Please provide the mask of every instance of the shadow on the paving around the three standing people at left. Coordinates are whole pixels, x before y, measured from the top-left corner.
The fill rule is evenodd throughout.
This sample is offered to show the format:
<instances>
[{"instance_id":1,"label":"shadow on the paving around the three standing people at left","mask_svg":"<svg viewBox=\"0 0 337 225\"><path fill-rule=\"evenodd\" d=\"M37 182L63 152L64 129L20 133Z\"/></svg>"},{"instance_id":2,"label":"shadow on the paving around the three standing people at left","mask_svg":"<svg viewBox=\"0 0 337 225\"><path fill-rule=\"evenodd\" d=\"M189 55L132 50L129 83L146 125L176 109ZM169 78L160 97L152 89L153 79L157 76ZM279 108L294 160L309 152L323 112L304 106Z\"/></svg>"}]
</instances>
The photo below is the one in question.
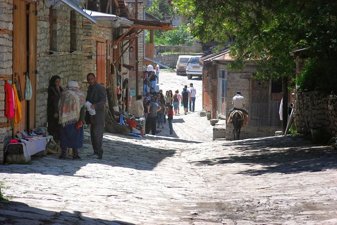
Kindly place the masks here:
<instances>
[{"instance_id":1,"label":"shadow on the paving around the three standing people at left","mask_svg":"<svg viewBox=\"0 0 337 225\"><path fill-rule=\"evenodd\" d=\"M94 159L87 156L93 153L90 138L84 140L83 148L79 149L80 161L73 161L72 156L59 159L59 153L46 156L31 156L30 164L9 164L0 166L0 173L43 174L55 176L74 176L81 167L90 163L120 166L141 171L151 171L166 157L175 154L174 149L164 149L137 144L137 140L128 141L129 136L114 136L114 140L103 138L103 158ZM156 137L158 139L158 137ZM149 140L149 145L151 141ZM153 140L156 141L156 140Z\"/></svg>"}]
</instances>

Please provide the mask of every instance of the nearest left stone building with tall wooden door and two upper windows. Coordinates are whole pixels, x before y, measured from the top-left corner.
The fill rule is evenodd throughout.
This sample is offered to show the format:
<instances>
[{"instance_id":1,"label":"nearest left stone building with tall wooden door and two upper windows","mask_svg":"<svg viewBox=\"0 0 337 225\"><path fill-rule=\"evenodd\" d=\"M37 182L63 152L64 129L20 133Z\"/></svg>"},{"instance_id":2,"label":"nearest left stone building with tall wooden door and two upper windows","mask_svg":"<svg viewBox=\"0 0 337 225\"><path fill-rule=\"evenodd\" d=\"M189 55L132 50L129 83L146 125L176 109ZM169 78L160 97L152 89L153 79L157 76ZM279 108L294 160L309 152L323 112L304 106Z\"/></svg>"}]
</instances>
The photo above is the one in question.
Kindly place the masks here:
<instances>
[{"instance_id":1,"label":"nearest left stone building with tall wooden door and two upper windows","mask_svg":"<svg viewBox=\"0 0 337 225\"><path fill-rule=\"evenodd\" d=\"M17 131L46 126L51 76L59 75L63 87L71 80L82 86L83 12L66 5L53 8L46 4L38 0L6 0L0 5L0 162L8 140ZM14 125L4 117L4 82L18 81L24 93L27 78L31 81L32 98L21 101L22 119Z\"/></svg>"}]
</instances>

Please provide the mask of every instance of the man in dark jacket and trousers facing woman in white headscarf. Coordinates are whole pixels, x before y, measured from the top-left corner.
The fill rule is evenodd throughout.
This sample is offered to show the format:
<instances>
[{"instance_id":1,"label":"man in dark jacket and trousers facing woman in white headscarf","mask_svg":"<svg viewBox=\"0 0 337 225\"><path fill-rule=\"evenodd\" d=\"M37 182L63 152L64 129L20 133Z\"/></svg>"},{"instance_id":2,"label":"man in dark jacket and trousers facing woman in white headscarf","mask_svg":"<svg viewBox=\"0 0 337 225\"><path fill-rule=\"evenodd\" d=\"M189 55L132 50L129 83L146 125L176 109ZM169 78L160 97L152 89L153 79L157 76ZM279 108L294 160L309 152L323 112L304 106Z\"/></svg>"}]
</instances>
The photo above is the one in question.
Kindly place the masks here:
<instances>
[{"instance_id":1,"label":"man in dark jacket and trousers facing woman in white headscarf","mask_svg":"<svg viewBox=\"0 0 337 225\"><path fill-rule=\"evenodd\" d=\"M93 73L89 73L87 75L87 81L89 83L89 87L86 100L92 104L90 107L96 110L95 115L90 115L90 138L94 153L87 156L100 159L103 156L102 141L105 118L106 91L102 85L96 82L96 77Z\"/></svg>"}]
</instances>

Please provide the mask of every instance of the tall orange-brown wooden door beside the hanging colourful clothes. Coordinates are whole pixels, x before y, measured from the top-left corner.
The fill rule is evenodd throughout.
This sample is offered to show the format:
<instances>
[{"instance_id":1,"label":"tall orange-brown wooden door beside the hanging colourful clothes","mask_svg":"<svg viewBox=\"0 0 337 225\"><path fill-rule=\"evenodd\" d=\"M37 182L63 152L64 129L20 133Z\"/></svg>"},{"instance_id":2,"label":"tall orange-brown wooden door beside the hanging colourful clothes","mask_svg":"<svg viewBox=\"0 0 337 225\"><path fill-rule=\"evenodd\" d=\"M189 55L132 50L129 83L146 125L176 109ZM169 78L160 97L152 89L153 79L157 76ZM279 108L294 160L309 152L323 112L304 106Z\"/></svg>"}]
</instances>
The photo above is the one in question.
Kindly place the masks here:
<instances>
[{"instance_id":1,"label":"tall orange-brown wooden door beside the hanging colourful clothes","mask_svg":"<svg viewBox=\"0 0 337 225\"><path fill-rule=\"evenodd\" d=\"M13 81L20 80L22 97L22 119L15 125L13 136L18 130L35 126L36 100L36 4L21 0L13 1ZM26 75L32 85L32 98L24 100Z\"/></svg>"}]
</instances>

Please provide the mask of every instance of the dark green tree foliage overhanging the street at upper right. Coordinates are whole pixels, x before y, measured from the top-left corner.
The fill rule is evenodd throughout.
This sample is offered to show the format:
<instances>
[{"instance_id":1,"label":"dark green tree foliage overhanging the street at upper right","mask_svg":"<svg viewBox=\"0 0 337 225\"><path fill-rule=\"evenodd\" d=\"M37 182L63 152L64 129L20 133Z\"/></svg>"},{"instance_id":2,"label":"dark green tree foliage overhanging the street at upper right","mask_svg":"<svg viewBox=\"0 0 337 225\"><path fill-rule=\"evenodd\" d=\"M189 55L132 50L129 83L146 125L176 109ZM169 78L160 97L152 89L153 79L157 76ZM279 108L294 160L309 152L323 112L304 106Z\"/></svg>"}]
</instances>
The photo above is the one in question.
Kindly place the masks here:
<instances>
[{"instance_id":1,"label":"dark green tree foliage overhanging the street at upper right","mask_svg":"<svg viewBox=\"0 0 337 225\"><path fill-rule=\"evenodd\" d=\"M337 59L337 2L173 0L175 10L191 24L192 34L203 42L226 42L234 37L231 66L256 60L260 79L294 74L295 58L290 54L306 48L311 70L317 65L335 64ZM309 69L309 67L307 67ZM336 74L325 74L325 78ZM317 78L317 75L314 75ZM314 88L317 88L315 86Z\"/></svg>"}]
</instances>

